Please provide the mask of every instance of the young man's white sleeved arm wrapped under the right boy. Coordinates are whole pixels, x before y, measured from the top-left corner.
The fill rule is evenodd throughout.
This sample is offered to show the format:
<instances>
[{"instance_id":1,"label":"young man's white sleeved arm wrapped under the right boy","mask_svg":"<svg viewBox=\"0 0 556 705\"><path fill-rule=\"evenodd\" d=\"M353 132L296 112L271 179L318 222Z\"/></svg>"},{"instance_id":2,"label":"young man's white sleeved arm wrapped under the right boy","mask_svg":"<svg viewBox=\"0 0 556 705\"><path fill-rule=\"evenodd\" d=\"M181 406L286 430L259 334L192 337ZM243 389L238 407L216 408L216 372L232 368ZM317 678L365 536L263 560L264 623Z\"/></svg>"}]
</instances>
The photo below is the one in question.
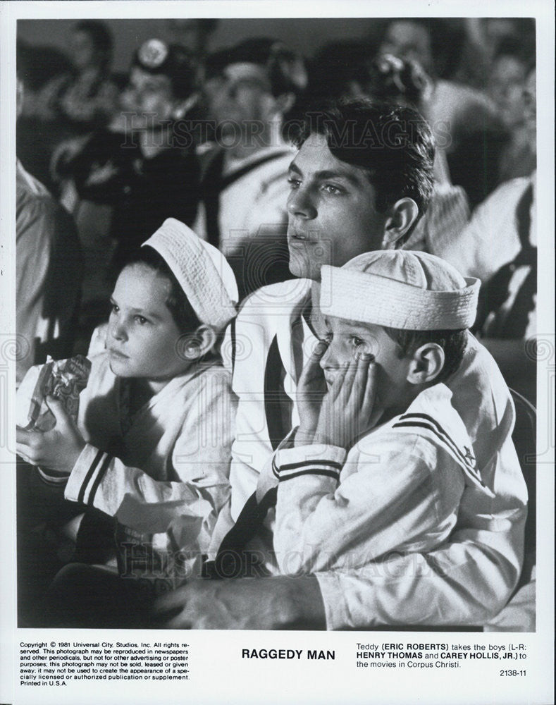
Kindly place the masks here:
<instances>
[{"instance_id":1,"label":"young man's white sleeved arm wrapped under the right boy","mask_svg":"<svg viewBox=\"0 0 556 705\"><path fill-rule=\"evenodd\" d=\"M319 572L328 629L486 623L507 603L521 570L526 507L513 490L501 484L483 513L483 497L466 486L457 529L433 551Z\"/></svg>"}]
</instances>

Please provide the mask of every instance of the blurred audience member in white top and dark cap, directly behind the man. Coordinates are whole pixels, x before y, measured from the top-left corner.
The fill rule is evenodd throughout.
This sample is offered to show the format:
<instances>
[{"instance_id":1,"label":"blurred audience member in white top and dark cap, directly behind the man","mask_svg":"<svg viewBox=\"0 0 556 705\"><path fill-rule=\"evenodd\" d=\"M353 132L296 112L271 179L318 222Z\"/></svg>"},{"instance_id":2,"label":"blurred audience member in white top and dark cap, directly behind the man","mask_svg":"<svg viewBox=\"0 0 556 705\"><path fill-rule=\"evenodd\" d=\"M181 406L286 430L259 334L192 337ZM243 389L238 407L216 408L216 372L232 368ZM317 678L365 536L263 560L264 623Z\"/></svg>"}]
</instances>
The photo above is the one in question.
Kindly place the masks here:
<instances>
[{"instance_id":1,"label":"blurred audience member in white top and dark cap, directly behind the man","mask_svg":"<svg viewBox=\"0 0 556 705\"><path fill-rule=\"evenodd\" d=\"M204 95L217 145L204 154L193 227L226 255L240 298L290 276L285 200L292 150L282 130L306 80L301 59L273 39L248 39L206 63Z\"/></svg>"}]
</instances>

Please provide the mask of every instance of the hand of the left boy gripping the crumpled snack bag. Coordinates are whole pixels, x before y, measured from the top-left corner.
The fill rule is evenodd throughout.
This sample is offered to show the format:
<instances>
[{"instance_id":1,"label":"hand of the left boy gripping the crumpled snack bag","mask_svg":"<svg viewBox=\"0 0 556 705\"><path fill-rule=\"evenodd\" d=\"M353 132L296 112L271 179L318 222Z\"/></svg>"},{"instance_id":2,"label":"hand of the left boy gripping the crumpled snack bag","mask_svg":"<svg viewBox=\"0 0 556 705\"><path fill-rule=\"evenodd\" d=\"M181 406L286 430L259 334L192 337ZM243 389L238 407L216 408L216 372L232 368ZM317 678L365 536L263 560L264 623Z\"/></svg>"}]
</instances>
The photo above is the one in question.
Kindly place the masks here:
<instances>
[{"instance_id":1,"label":"hand of the left boy gripping the crumpled snack bag","mask_svg":"<svg viewBox=\"0 0 556 705\"><path fill-rule=\"evenodd\" d=\"M17 429L17 452L31 465L70 472L85 448L85 440L59 399L47 398L56 426L51 431Z\"/></svg>"}]
</instances>

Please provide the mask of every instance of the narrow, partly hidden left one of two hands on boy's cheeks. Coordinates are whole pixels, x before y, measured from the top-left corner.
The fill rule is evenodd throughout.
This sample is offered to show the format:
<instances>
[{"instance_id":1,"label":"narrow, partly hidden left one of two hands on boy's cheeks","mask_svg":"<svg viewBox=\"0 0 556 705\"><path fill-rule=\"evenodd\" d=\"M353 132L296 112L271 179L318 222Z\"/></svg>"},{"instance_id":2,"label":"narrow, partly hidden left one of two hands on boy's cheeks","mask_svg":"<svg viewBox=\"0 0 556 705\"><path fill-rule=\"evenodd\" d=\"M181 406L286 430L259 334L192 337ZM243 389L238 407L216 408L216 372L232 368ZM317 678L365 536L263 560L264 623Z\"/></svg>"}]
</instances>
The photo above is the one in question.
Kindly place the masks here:
<instances>
[{"instance_id":1,"label":"narrow, partly hidden left one of two hands on boy's cheeks","mask_svg":"<svg viewBox=\"0 0 556 705\"><path fill-rule=\"evenodd\" d=\"M326 394L326 380L320 362L327 347L324 341L319 341L297 383L299 429L295 435L296 445L311 443L316 424L319 422L319 413Z\"/></svg>"}]
</instances>

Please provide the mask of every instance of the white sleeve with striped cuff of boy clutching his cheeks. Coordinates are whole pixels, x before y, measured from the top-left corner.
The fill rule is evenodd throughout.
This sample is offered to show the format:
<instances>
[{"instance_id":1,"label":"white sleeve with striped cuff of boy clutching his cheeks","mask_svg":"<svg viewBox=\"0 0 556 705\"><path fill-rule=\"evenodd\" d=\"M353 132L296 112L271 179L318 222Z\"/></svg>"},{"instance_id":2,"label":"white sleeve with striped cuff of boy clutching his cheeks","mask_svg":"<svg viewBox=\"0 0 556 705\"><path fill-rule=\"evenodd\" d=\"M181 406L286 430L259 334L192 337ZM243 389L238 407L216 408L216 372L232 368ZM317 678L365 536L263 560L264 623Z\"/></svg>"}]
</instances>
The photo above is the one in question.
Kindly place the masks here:
<instances>
[{"instance_id":1,"label":"white sleeve with striped cuff of boy clutching his cheeks","mask_svg":"<svg viewBox=\"0 0 556 705\"><path fill-rule=\"evenodd\" d=\"M280 450L274 548L281 572L357 568L391 551L427 550L450 534L464 486L450 456L401 434L367 448L376 454L358 455L339 485L343 448Z\"/></svg>"}]
</instances>

